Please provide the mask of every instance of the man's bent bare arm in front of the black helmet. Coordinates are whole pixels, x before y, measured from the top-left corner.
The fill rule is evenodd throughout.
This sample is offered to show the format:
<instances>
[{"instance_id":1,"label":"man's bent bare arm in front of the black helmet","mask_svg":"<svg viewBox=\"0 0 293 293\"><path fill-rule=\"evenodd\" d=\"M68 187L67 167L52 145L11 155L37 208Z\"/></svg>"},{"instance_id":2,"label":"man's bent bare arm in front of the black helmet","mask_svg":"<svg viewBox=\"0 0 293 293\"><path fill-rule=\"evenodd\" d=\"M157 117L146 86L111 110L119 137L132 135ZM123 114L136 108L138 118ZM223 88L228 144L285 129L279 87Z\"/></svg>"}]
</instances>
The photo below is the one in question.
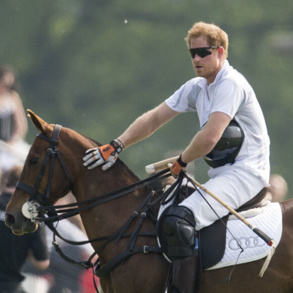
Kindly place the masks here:
<instances>
[{"instance_id":1,"label":"man's bent bare arm in front of the black helmet","mask_svg":"<svg viewBox=\"0 0 293 293\"><path fill-rule=\"evenodd\" d=\"M182 162L190 163L209 154L221 138L230 121L230 116L225 113L212 113L205 127L193 137L182 153Z\"/></svg>"}]
</instances>

